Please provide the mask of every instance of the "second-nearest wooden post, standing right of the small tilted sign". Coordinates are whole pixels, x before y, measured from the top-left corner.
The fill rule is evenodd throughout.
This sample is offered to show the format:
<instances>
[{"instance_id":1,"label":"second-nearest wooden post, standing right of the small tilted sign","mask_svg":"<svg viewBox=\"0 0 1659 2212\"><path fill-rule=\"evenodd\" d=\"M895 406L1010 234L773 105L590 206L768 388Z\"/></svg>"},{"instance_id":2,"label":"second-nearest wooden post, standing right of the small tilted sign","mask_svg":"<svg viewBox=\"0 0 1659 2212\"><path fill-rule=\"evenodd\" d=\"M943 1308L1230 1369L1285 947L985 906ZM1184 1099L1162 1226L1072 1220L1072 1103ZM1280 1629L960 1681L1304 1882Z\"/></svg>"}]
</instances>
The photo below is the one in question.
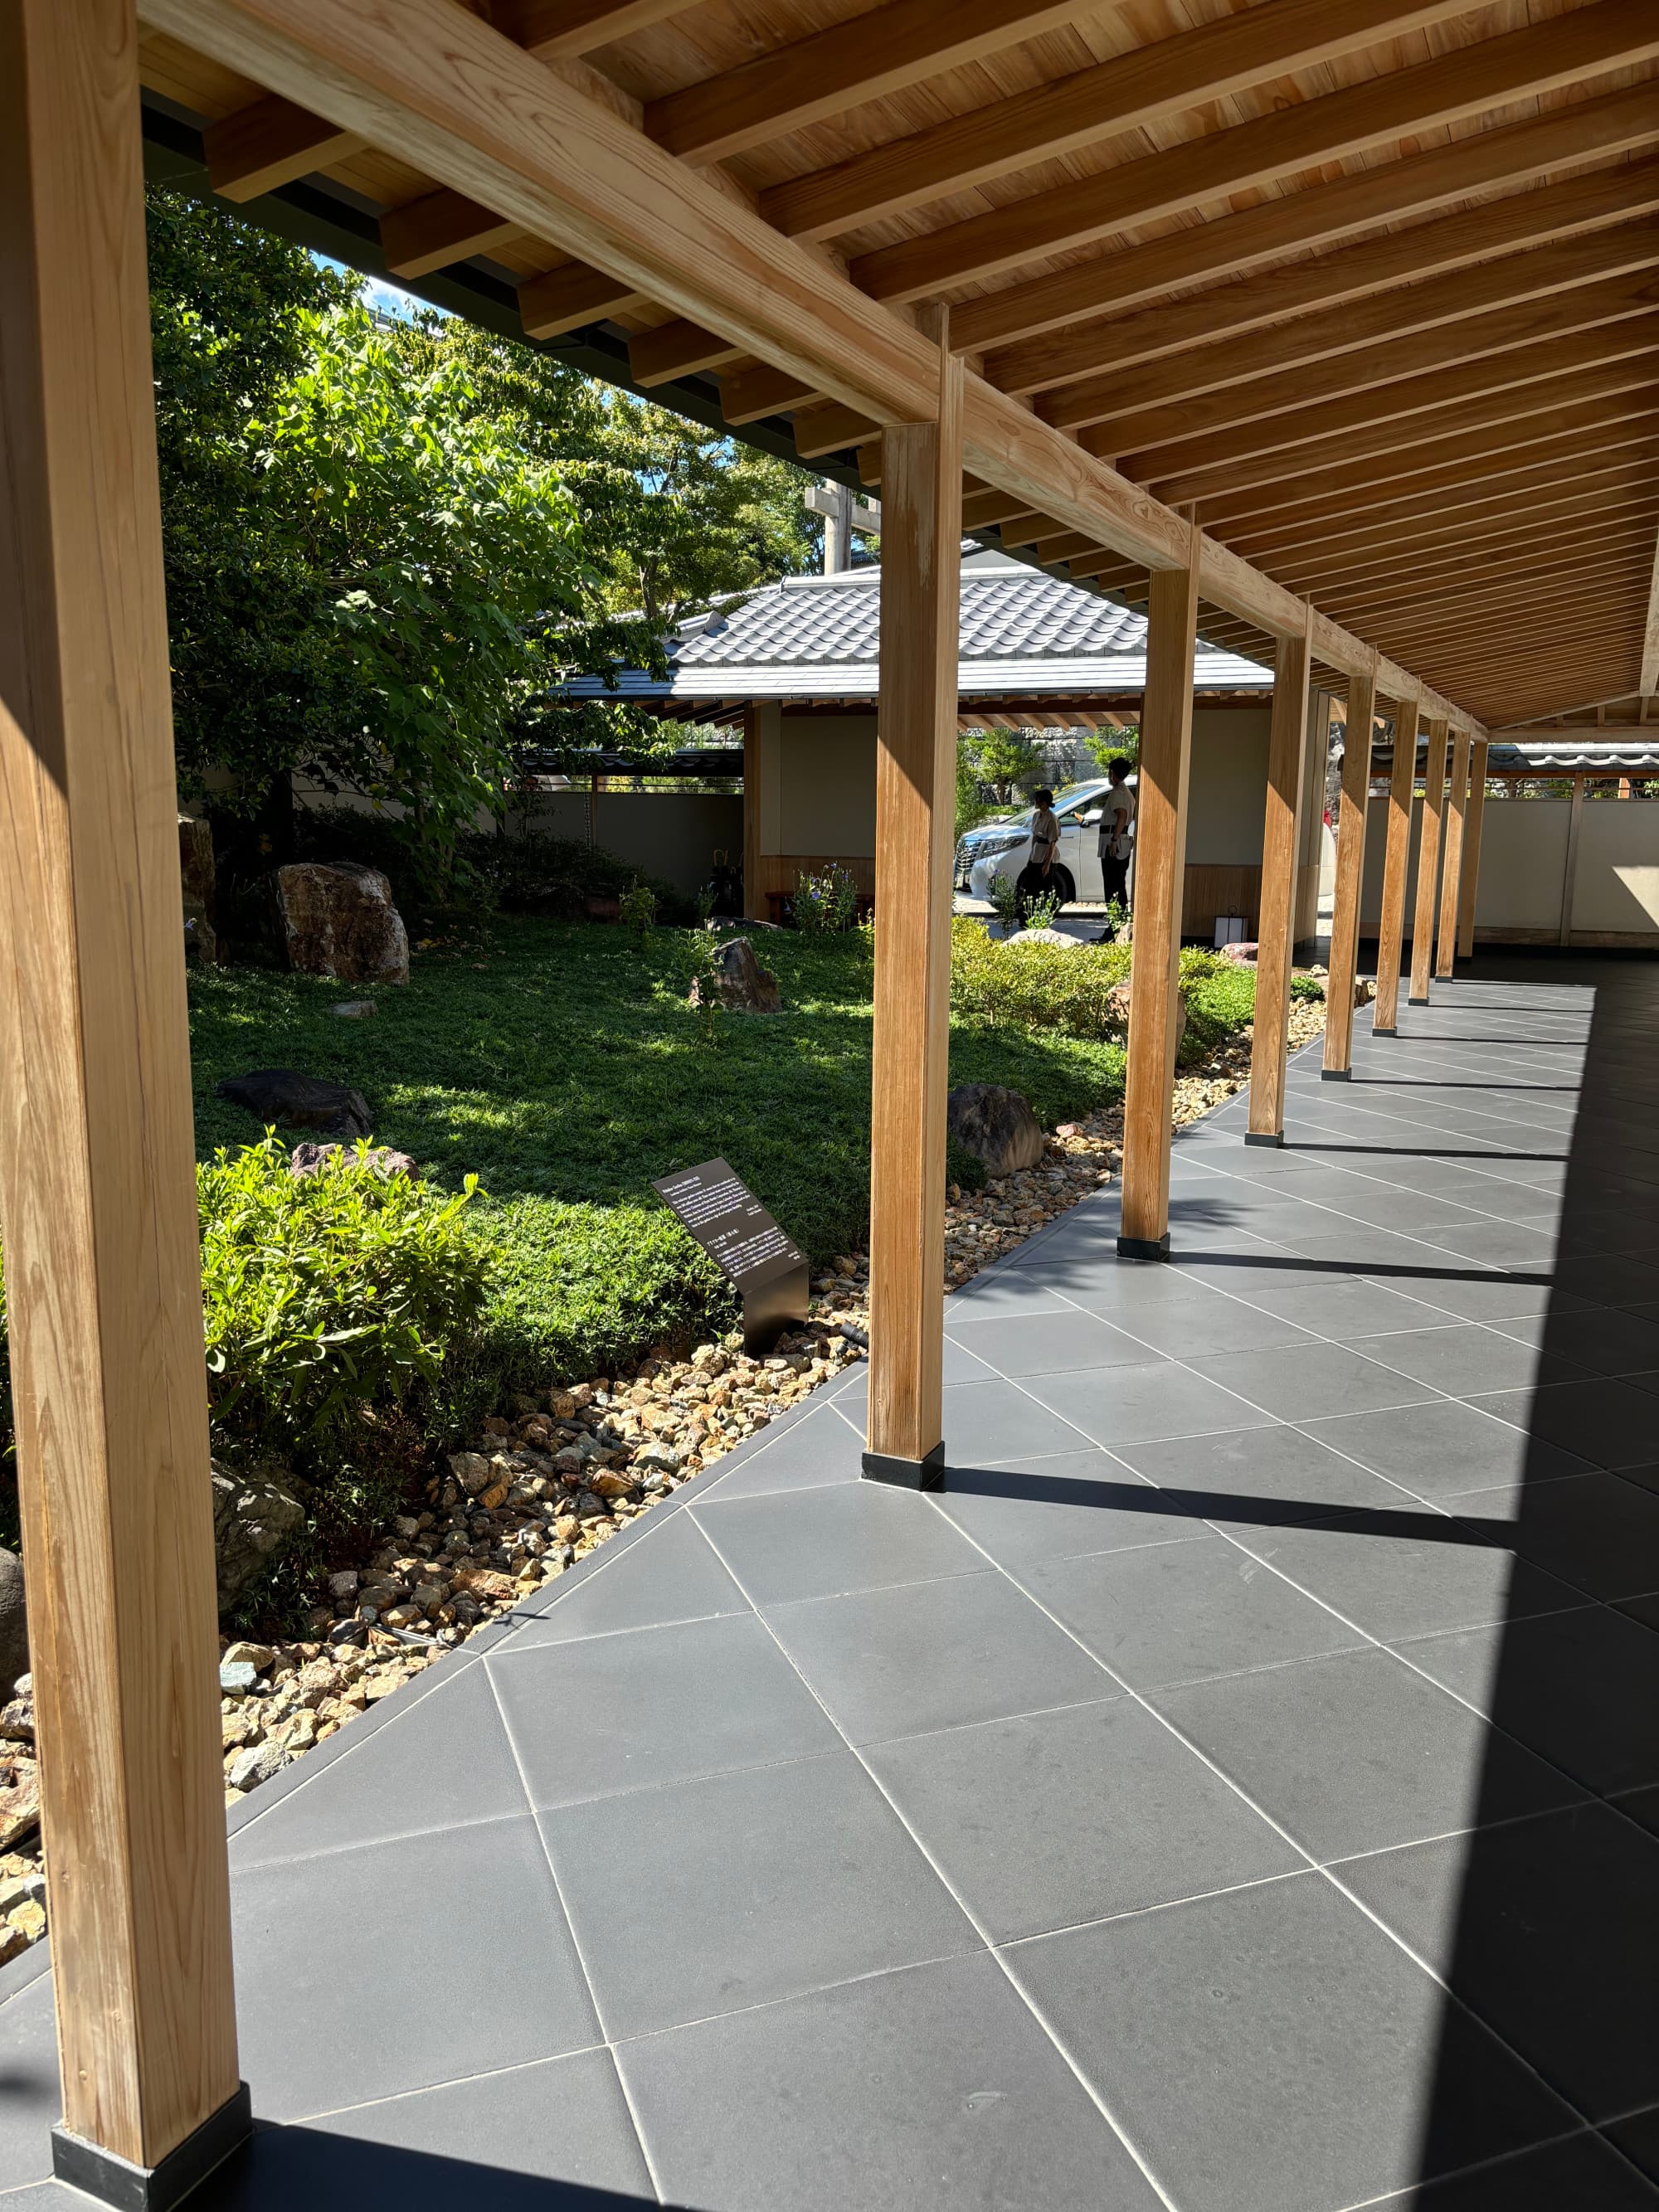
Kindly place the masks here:
<instances>
[{"instance_id":1,"label":"second-nearest wooden post, standing right of the small tilted sign","mask_svg":"<svg viewBox=\"0 0 1659 2212\"><path fill-rule=\"evenodd\" d=\"M876 741L876 1040L865 1475L945 1462L945 1097L951 1011L962 363L940 418L883 434Z\"/></svg>"}]
</instances>

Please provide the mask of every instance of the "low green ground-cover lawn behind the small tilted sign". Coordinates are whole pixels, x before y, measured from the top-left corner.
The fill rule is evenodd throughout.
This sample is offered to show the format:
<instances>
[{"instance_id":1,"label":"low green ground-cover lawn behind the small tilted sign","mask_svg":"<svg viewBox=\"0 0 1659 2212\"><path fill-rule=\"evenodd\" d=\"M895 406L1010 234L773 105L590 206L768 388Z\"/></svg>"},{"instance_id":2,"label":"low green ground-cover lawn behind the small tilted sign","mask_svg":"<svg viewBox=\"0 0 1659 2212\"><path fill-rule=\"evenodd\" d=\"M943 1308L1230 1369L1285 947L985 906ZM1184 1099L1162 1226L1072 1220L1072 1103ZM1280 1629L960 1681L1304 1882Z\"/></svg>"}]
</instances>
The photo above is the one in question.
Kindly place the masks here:
<instances>
[{"instance_id":1,"label":"low green ground-cover lawn behind the small tilted sign","mask_svg":"<svg viewBox=\"0 0 1659 2212\"><path fill-rule=\"evenodd\" d=\"M785 1011L726 1015L712 1042L686 1006L686 942L664 929L641 951L615 927L504 918L482 953L416 953L407 989L378 991L365 1022L330 1011L352 987L197 969L199 1150L257 1135L215 1097L223 1075L356 1084L376 1141L442 1186L482 1186L478 1225L500 1248L491 1365L524 1380L611 1365L728 1310L650 1190L670 1168L723 1155L814 1261L865 1241L867 940L763 933ZM1217 980L1206 1033L1248 1018L1252 980ZM1119 1042L951 1029L951 1079L1009 1084L1044 1126L1117 1097L1121 1068Z\"/></svg>"}]
</instances>

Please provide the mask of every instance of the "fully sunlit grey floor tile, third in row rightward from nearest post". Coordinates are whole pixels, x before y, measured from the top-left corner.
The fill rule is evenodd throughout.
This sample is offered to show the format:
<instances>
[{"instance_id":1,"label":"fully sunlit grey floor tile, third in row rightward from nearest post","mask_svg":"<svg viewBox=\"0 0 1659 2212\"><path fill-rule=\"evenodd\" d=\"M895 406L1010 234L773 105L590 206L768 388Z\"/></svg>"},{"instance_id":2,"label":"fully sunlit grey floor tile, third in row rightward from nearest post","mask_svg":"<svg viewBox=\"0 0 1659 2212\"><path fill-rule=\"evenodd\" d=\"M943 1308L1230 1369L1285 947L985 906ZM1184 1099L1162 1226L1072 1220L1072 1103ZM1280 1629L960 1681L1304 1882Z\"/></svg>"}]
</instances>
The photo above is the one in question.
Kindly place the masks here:
<instances>
[{"instance_id":1,"label":"fully sunlit grey floor tile, third in row rightward from nearest post","mask_svg":"<svg viewBox=\"0 0 1659 2212\"><path fill-rule=\"evenodd\" d=\"M993 1942L1303 1865L1128 1697L905 1736L869 1761Z\"/></svg>"}]
</instances>

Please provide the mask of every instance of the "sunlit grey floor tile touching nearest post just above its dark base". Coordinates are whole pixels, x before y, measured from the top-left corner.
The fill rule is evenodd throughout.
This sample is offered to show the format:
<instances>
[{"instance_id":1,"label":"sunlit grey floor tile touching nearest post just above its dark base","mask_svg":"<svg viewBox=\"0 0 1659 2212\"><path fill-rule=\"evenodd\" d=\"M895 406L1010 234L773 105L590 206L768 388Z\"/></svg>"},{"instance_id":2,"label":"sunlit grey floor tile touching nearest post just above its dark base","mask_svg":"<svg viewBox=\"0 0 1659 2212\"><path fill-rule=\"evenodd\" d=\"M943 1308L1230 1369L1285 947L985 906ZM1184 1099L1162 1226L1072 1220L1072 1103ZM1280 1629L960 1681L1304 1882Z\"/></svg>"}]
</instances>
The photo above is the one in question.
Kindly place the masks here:
<instances>
[{"instance_id":1,"label":"sunlit grey floor tile touching nearest post just above its dark base","mask_svg":"<svg viewBox=\"0 0 1659 2212\"><path fill-rule=\"evenodd\" d=\"M429 1913L409 1936L398 1900L453 1896L462 1867L469 1911ZM261 2119L303 2119L599 2039L529 1814L471 1827L462 1843L405 1836L250 1867L230 1902L241 2070ZM369 1991L396 2008L396 2035L363 2033Z\"/></svg>"}]
</instances>

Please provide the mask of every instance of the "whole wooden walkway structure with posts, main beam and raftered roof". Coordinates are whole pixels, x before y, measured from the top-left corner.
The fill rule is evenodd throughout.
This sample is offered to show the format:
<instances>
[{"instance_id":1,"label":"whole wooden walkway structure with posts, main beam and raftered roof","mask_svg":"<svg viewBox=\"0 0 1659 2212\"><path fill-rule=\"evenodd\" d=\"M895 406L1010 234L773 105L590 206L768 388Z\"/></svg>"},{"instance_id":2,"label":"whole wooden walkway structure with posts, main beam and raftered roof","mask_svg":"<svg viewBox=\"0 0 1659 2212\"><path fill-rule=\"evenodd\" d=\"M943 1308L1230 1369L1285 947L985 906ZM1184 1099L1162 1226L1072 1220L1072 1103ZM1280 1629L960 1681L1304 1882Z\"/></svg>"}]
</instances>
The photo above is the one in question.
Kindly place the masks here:
<instances>
[{"instance_id":1,"label":"whole wooden walkway structure with posts, main beam and raftered roof","mask_svg":"<svg viewBox=\"0 0 1659 2212\"><path fill-rule=\"evenodd\" d=\"M1444 973L1484 723L1655 688L1655 58L1652 0L7 0L0 1190L62 2172L170 2203L248 2126L142 86L197 117L219 195L338 188L392 272L484 257L526 336L602 325L639 385L701 378L880 482L867 1469L925 1484L960 531L1150 611L1121 1225L1155 1256L1199 624L1276 670L1256 1141L1283 1133L1310 681L1349 701L1345 975L1374 717L1400 732L1383 1031L1418 721L1436 838L1453 748L1416 942L1438 918ZM1571 635L1540 593L1584 611ZM1345 1073L1345 1020L1329 1051Z\"/></svg>"}]
</instances>

